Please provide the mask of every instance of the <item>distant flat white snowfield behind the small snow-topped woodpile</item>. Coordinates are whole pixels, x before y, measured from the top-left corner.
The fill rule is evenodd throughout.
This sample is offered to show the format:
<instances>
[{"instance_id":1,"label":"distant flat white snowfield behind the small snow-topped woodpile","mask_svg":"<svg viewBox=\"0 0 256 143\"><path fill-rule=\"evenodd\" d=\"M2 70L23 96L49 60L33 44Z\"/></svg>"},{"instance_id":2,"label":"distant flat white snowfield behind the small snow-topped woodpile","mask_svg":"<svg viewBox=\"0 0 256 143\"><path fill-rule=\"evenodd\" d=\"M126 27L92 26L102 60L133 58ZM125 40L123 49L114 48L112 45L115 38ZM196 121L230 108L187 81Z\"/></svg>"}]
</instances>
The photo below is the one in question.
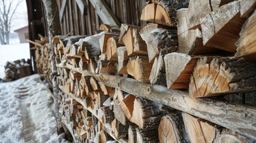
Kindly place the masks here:
<instances>
[{"instance_id":1,"label":"distant flat white snowfield behind the small snow-topped woodpile","mask_svg":"<svg viewBox=\"0 0 256 143\"><path fill-rule=\"evenodd\" d=\"M0 78L4 77L4 65L7 61L30 58L29 43L0 45Z\"/></svg>"}]
</instances>

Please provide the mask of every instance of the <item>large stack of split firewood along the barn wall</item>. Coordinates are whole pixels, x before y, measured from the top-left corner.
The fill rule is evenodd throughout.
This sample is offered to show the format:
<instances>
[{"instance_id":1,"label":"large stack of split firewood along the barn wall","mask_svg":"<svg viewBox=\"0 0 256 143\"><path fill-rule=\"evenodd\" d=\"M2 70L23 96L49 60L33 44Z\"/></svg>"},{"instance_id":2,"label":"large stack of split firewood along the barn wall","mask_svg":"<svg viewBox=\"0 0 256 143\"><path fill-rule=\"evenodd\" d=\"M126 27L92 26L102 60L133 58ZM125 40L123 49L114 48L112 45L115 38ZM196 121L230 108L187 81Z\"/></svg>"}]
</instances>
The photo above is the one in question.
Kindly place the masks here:
<instances>
[{"instance_id":1,"label":"large stack of split firewood along the barn wall","mask_svg":"<svg viewBox=\"0 0 256 143\"><path fill-rule=\"evenodd\" d=\"M141 14L141 20L149 22L143 27L122 24L120 30L110 30L103 25L100 33L91 36L55 36L60 111L73 138L79 142L255 141L255 107L244 115L251 117L251 125L246 125L250 132L209 122L215 117L227 119L218 114L198 117L211 112L204 110L208 104L200 104L204 101L220 102L216 110L224 112L223 101L218 101L223 96L214 100L207 97L246 95L256 90L256 63L252 62L256 53L255 5L255 1L242 0L152 0ZM38 56L43 63L40 60L45 55L41 52ZM115 75L118 88L101 81L106 75L101 73ZM195 104L187 108L196 111L188 114L165 106L172 107L171 102L162 105L132 95L145 90L140 86L124 92L118 76L161 85L157 86L161 87L159 92L163 86L170 93L185 92L189 96L180 107L193 101ZM177 96L172 101L181 102L179 99ZM225 105L236 108L229 102Z\"/></svg>"}]
</instances>

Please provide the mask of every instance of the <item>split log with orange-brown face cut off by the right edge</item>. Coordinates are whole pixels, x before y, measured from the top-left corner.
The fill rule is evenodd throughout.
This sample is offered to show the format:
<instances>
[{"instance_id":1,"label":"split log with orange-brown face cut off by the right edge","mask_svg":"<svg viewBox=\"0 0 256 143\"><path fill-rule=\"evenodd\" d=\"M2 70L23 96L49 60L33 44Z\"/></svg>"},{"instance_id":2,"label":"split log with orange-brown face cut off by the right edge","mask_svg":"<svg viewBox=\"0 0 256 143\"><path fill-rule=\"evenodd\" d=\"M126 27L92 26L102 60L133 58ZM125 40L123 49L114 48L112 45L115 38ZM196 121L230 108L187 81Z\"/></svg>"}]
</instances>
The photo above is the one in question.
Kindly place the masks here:
<instances>
[{"instance_id":1,"label":"split log with orange-brown face cut off by the right edge","mask_svg":"<svg viewBox=\"0 0 256 143\"><path fill-rule=\"evenodd\" d=\"M240 32L237 42L238 49L236 57L243 57L248 61L256 61L255 33L256 33L256 11L248 18Z\"/></svg>"}]
</instances>

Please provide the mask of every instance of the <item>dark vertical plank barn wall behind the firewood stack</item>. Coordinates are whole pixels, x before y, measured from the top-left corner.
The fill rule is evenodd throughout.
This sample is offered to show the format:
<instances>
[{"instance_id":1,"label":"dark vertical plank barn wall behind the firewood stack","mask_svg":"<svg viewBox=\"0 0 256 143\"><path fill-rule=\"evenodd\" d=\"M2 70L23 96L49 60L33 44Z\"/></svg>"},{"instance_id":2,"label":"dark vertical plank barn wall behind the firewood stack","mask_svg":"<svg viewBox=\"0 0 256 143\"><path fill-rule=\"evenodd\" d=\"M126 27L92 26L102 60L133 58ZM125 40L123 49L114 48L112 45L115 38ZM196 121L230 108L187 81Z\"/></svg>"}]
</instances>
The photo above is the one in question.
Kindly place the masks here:
<instances>
[{"instance_id":1,"label":"dark vertical plank barn wall behind the firewood stack","mask_svg":"<svg viewBox=\"0 0 256 143\"><path fill-rule=\"evenodd\" d=\"M58 9L60 10L64 0L56 1ZM100 20L100 17L98 17L90 1L85 0L85 2L88 5L87 13L82 15L76 1L67 1L63 21L61 22L63 35L67 35L69 32L72 32L71 35L92 35L99 29L100 24L103 22ZM146 24L144 21L140 21L140 14L146 0L106 0L106 2L121 23L134 24L137 26Z\"/></svg>"}]
</instances>

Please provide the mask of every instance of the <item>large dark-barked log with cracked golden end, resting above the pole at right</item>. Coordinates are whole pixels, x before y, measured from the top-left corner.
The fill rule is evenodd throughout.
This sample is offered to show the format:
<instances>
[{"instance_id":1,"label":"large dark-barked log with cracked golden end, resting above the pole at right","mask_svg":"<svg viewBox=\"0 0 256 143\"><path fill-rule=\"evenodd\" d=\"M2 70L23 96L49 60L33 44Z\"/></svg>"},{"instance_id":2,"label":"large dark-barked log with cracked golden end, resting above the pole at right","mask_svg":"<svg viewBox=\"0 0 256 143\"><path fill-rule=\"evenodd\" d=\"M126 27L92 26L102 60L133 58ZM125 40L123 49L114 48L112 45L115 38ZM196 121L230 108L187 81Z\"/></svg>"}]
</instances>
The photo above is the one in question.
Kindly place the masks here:
<instances>
[{"instance_id":1,"label":"large dark-barked log with cracked golden end, resting above the pole at right","mask_svg":"<svg viewBox=\"0 0 256 143\"><path fill-rule=\"evenodd\" d=\"M189 84L190 97L255 91L256 64L235 58L201 58Z\"/></svg>"}]
</instances>

